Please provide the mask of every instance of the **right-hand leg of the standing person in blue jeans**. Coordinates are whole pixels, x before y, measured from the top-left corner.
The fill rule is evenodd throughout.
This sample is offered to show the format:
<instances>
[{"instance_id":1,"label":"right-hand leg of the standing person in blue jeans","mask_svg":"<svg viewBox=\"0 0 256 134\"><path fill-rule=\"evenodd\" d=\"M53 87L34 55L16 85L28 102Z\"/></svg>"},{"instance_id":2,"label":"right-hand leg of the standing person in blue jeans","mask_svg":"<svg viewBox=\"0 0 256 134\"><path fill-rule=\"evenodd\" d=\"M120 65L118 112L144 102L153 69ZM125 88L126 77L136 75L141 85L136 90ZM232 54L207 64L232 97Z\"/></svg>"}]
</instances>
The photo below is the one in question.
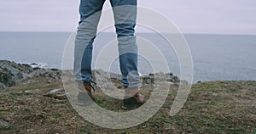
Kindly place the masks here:
<instances>
[{"instance_id":1,"label":"right-hand leg of the standing person in blue jeans","mask_svg":"<svg viewBox=\"0 0 256 134\"><path fill-rule=\"evenodd\" d=\"M118 36L119 63L125 87L138 87L137 42L134 28L137 20L137 0L110 0Z\"/></svg>"}]
</instances>

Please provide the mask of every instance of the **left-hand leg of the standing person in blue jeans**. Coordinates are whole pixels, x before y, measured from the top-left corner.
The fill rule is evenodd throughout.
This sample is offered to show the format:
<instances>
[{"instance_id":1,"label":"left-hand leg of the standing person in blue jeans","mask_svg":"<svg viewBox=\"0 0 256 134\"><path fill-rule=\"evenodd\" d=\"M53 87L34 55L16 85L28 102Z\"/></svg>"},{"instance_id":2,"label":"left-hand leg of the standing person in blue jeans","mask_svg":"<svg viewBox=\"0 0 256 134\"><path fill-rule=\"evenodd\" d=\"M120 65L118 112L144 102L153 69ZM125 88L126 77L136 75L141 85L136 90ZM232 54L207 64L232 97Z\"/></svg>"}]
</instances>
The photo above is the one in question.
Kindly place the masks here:
<instances>
[{"instance_id":1,"label":"left-hand leg of the standing person in blue jeans","mask_svg":"<svg viewBox=\"0 0 256 134\"><path fill-rule=\"evenodd\" d=\"M90 82L92 47L105 0L80 0L80 21L75 38L73 73L75 81Z\"/></svg>"}]
</instances>

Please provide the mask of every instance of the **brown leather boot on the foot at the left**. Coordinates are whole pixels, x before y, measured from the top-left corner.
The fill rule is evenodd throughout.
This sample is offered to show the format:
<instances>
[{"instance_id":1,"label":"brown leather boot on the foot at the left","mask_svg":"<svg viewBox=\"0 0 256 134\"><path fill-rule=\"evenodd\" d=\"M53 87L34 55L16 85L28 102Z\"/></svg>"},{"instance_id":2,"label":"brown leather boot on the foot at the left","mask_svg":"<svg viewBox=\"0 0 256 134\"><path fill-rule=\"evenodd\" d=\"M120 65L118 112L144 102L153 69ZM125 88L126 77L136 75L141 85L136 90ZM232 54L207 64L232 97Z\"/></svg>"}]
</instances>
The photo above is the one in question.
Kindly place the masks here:
<instances>
[{"instance_id":1,"label":"brown leather boot on the foot at the left","mask_svg":"<svg viewBox=\"0 0 256 134\"><path fill-rule=\"evenodd\" d=\"M78 96L78 104L81 106L89 105L92 103L91 100L95 101L96 99L92 96L90 82L79 82L79 96ZM91 100L90 100L91 99Z\"/></svg>"}]
</instances>

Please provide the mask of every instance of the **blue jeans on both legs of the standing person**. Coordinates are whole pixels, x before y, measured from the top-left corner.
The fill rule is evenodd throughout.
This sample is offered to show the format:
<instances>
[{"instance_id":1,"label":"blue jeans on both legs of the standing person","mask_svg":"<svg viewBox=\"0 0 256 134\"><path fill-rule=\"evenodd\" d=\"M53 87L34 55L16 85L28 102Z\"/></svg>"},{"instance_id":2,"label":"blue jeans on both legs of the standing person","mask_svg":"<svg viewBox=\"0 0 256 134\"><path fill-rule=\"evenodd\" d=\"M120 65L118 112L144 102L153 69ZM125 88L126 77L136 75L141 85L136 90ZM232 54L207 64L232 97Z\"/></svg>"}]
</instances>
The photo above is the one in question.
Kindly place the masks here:
<instances>
[{"instance_id":1,"label":"blue jeans on both legs of the standing person","mask_svg":"<svg viewBox=\"0 0 256 134\"><path fill-rule=\"evenodd\" d=\"M96 29L105 0L80 0L80 21L75 39L74 69L76 81L90 82L91 59ZM119 64L125 87L137 87L137 42L134 28L137 19L137 0L110 0L118 37ZM128 6L128 7L127 7Z\"/></svg>"}]
</instances>

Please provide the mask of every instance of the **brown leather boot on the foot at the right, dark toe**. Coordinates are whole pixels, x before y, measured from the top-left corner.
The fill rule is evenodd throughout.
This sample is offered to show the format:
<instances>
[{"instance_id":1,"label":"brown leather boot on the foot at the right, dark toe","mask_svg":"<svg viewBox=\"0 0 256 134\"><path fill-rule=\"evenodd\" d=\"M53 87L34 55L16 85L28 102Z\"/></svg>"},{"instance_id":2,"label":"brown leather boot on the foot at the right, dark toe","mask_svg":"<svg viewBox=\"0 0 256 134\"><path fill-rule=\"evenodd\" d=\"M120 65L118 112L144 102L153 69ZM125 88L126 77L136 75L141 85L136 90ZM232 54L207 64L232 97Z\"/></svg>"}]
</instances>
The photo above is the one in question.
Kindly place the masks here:
<instances>
[{"instance_id":1,"label":"brown leather boot on the foot at the right, dark toe","mask_svg":"<svg viewBox=\"0 0 256 134\"><path fill-rule=\"evenodd\" d=\"M136 93L131 98L126 98L123 101L122 109L137 109L145 103L144 97L141 94Z\"/></svg>"}]
</instances>

